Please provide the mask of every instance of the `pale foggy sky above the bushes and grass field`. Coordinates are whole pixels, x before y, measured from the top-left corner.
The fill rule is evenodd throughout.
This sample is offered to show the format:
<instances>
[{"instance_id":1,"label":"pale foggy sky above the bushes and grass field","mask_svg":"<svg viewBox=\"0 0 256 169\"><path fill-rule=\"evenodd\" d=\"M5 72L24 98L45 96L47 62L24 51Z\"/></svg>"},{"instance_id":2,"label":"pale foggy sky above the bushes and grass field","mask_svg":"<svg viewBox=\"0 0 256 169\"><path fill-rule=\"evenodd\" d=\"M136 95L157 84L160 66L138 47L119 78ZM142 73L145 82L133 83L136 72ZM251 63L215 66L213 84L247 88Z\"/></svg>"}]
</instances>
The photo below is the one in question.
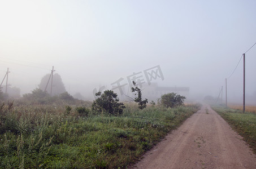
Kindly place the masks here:
<instances>
[{"instance_id":1,"label":"pale foggy sky above the bushes and grass field","mask_svg":"<svg viewBox=\"0 0 256 169\"><path fill-rule=\"evenodd\" d=\"M0 79L9 68L8 84L22 96L39 88L54 66L64 90L84 100L106 89L125 100L134 80L152 100L167 91L189 101L216 100L223 87L224 103L227 78L228 102L242 104L240 58L256 42L255 6L256 1L0 1ZM255 63L256 45L246 52L247 104L256 104Z\"/></svg>"}]
</instances>

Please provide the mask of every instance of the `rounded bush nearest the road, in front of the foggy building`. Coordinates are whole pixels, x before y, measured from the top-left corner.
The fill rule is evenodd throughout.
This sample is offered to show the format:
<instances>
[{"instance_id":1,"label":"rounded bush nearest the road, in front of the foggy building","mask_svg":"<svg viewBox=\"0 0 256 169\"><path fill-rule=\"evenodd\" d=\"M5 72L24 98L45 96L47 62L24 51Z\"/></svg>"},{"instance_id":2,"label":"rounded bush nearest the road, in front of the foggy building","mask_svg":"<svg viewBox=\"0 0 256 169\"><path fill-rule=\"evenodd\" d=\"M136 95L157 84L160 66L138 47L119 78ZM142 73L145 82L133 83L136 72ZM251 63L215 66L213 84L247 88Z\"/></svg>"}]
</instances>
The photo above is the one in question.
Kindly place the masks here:
<instances>
[{"instance_id":1,"label":"rounded bush nearest the road, in front of the foggy building","mask_svg":"<svg viewBox=\"0 0 256 169\"><path fill-rule=\"evenodd\" d=\"M175 93L164 94L161 96L160 103L167 108L174 108L176 106L184 105L185 96L181 96Z\"/></svg>"}]
</instances>

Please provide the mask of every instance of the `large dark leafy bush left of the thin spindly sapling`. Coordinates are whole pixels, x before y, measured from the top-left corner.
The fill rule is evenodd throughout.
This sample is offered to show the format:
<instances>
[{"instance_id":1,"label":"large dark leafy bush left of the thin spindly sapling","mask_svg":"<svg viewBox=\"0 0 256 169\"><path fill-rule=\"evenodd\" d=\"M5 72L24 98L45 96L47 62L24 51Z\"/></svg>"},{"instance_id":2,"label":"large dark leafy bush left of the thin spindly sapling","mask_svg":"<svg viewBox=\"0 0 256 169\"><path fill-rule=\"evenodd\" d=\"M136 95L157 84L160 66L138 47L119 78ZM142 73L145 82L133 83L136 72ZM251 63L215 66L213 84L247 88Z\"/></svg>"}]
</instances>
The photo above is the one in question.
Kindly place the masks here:
<instances>
[{"instance_id":1,"label":"large dark leafy bush left of the thin spindly sapling","mask_svg":"<svg viewBox=\"0 0 256 169\"><path fill-rule=\"evenodd\" d=\"M122 114L125 108L123 103L119 103L118 94L112 90L106 90L103 94L101 91L96 93L98 99L93 101L92 110L98 112L109 112L110 114Z\"/></svg>"}]
</instances>

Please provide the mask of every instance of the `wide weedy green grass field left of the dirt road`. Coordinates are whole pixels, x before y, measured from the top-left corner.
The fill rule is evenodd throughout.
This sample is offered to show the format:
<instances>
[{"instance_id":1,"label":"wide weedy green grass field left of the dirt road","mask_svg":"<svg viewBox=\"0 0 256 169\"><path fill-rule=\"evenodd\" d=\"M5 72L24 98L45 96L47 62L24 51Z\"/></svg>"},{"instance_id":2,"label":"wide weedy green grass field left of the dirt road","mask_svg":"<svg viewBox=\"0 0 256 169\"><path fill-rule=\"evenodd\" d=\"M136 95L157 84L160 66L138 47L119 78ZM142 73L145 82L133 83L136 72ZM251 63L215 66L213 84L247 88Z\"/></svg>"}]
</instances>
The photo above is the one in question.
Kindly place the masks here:
<instances>
[{"instance_id":1,"label":"wide weedy green grass field left of the dirt road","mask_svg":"<svg viewBox=\"0 0 256 169\"><path fill-rule=\"evenodd\" d=\"M122 115L73 107L0 105L0 168L125 168L197 112L126 105Z\"/></svg>"}]
</instances>

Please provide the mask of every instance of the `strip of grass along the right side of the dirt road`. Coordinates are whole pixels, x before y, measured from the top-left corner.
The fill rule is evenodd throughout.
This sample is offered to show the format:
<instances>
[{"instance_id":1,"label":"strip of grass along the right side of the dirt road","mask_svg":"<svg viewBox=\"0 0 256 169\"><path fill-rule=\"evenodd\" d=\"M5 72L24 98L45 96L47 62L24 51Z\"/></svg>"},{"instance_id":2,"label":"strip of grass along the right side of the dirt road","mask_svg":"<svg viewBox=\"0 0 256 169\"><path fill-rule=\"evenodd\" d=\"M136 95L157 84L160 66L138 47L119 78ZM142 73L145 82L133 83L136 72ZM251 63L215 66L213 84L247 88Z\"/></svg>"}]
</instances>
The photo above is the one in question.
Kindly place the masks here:
<instances>
[{"instance_id":1,"label":"strip of grass along the right side of the dirt road","mask_svg":"<svg viewBox=\"0 0 256 169\"><path fill-rule=\"evenodd\" d=\"M256 153L256 114L245 112L241 110L213 107L222 118L227 121L233 130L238 132L246 143L250 145L254 153Z\"/></svg>"}]
</instances>

